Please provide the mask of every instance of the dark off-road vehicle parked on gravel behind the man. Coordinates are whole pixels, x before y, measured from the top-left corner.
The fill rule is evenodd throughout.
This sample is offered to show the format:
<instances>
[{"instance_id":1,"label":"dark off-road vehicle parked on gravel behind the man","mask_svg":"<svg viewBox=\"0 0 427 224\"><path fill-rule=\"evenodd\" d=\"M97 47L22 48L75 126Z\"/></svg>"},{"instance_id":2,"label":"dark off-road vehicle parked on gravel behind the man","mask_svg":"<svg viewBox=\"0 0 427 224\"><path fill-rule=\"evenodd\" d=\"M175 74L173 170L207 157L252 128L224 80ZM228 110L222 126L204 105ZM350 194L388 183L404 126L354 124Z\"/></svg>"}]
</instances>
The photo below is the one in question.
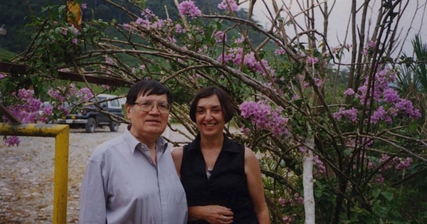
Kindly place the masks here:
<instances>
[{"instance_id":1,"label":"dark off-road vehicle parked on gravel behind the man","mask_svg":"<svg viewBox=\"0 0 427 224\"><path fill-rule=\"evenodd\" d=\"M97 100L93 98L90 102L103 101L117 97L116 95L100 94L97 95ZM123 117L122 105L118 99L100 102L102 110ZM105 113L97 111L99 107L93 104L88 104L77 113L70 113L56 121L57 124L69 124L70 128L84 128L86 132L95 132L96 127L105 127L108 125L111 132L117 132L119 122L115 122Z\"/></svg>"}]
</instances>

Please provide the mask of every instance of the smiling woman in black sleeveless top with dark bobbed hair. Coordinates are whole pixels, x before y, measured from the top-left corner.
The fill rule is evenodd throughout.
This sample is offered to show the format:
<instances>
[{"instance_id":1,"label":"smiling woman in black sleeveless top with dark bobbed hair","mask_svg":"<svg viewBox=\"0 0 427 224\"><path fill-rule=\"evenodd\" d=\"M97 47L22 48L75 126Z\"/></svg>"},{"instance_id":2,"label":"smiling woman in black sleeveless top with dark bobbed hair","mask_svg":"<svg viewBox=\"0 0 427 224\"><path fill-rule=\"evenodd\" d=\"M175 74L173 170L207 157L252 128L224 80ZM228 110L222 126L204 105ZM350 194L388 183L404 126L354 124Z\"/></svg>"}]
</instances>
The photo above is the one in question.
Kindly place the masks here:
<instances>
[{"instance_id":1,"label":"smiling woman in black sleeveless top with dark bobbed hair","mask_svg":"<svg viewBox=\"0 0 427 224\"><path fill-rule=\"evenodd\" d=\"M231 100L219 87L203 88L191 102L199 134L172 151L189 223L270 223L255 154L223 134L232 117Z\"/></svg>"}]
</instances>

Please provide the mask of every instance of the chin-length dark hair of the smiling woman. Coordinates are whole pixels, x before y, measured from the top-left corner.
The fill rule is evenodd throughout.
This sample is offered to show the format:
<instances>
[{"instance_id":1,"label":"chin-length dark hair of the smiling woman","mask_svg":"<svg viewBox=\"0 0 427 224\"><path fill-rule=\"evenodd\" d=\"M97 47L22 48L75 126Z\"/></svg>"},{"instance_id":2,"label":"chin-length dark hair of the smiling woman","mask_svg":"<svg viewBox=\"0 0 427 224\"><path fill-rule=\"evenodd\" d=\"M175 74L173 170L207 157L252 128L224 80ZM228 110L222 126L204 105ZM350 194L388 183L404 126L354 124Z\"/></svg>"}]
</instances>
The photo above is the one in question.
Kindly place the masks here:
<instances>
[{"instance_id":1,"label":"chin-length dark hair of the smiling woman","mask_svg":"<svg viewBox=\"0 0 427 224\"><path fill-rule=\"evenodd\" d=\"M204 87L199 92L196 93L194 96L193 101L191 102L190 106L190 118L193 122L196 122L196 110L197 110L197 103L201 98L210 97L211 95L216 95L219 99L219 103L221 104L221 110L224 114L224 119L226 120L226 123L233 118L234 109L233 104L231 103L231 99L220 87Z\"/></svg>"}]
</instances>

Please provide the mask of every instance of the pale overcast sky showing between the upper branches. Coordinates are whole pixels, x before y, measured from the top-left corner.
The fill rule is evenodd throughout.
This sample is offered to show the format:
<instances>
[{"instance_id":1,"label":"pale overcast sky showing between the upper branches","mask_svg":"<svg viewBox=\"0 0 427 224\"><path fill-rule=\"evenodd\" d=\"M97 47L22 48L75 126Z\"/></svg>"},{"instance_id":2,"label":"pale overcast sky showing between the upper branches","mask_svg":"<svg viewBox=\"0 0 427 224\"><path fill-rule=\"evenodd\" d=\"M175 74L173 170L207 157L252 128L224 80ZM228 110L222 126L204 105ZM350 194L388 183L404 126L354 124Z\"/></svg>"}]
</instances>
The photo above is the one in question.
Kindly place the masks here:
<instances>
[{"instance_id":1,"label":"pale overcast sky showing between the upper branches","mask_svg":"<svg viewBox=\"0 0 427 224\"><path fill-rule=\"evenodd\" d=\"M286 4L292 3L292 13L295 14L299 12L300 10L297 9L297 0L279 0L277 1L279 4L279 7L281 6L280 2L285 2ZM409 1L409 0L408 0ZM266 0L268 4L270 5L270 9L273 9L271 6L271 1ZM332 6L332 0L328 0L328 6ZM360 1L359 1L360 2ZM379 6L381 4L380 0L372 1L376 6ZM330 39L330 45L337 46L339 42L344 41L345 36L345 30L347 29L347 23L349 21L349 14L351 10L351 0L337 0L334 9L332 9L332 13L330 16L330 28L329 28L329 39ZM411 40L413 36L416 33L419 33L421 36L421 40L423 43L427 43L427 11L426 11L426 0L410 0L408 4L408 9L406 9L404 13L404 18L401 19L401 28L402 30L401 38L404 38L406 36L406 33L409 28L409 24L411 21L413 21L413 25L410 31L410 34L406 38L406 41L404 43L404 52L407 54L411 54L412 47L411 47ZM360 4L359 4L360 6ZM247 9L248 4L244 5L243 8ZM418 7L418 12L415 14L416 8ZM371 18L376 18L378 8L374 9L374 11L370 11L369 14L371 14ZM270 24L268 17L265 16L267 13L265 6L261 0L256 1L255 7L254 7L254 14L255 19L260 21L260 23L263 26L268 26ZM282 14L282 16L285 16L285 14ZM320 16L317 16L317 24L322 25L322 18ZM319 28L320 31L322 31L322 27ZM339 41L338 41L339 38ZM349 42L349 41L347 41Z\"/></svg>"}]
</instances>

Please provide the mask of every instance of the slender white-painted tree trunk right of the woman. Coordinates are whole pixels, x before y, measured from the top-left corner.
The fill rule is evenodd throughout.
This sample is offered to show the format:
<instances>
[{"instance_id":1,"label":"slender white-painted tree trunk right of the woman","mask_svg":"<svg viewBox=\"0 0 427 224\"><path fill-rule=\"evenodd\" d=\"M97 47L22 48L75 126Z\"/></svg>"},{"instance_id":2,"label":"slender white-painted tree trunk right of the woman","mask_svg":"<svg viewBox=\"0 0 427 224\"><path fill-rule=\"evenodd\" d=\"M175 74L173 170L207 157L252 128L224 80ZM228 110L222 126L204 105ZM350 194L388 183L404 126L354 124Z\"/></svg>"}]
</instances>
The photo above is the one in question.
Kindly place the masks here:
<instances>
[{"instance_id":1,"label":"slender white-painted tree trunk right of the woman","mask_svg":"<svg viewBox=\"0 0 427 224\"><path fill-rule=\"evenodd\" d=\"M315 224L315 195L313 191L313 153L315 140L305 139L307 151L302 156L302 186L304 187L305 224Z\"/></svg>"}]
</instances>

